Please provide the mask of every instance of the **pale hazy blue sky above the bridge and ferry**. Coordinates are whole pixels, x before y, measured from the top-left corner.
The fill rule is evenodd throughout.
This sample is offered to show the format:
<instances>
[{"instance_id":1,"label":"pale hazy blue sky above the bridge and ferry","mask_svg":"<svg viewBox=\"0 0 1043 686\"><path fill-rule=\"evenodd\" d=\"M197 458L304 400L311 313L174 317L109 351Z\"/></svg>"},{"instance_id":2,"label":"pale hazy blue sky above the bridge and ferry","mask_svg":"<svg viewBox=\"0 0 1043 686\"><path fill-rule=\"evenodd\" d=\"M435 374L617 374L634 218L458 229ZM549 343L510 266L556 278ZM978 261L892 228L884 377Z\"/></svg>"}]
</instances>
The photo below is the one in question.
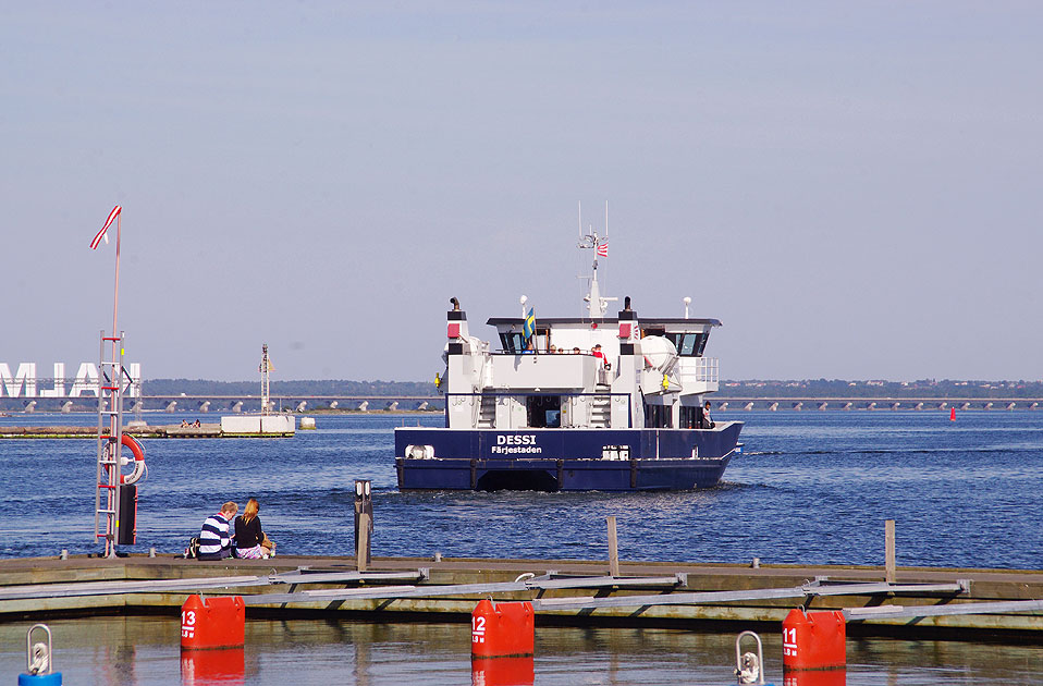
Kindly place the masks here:
<instances>
[{"instance_id":1,"label":"pale hazy blue sky above the bridge and ferry","mask_svg":"<svg viewBox=\"0 0 1043 686\"><path fill-rule=\"evenodd\" d=\"M727 378L1041 378L1043 8L0 7L0 362L424 380L444 311L722 319ZM478 333L488 338L486 327Z\"/></svg>"}]
</instances>

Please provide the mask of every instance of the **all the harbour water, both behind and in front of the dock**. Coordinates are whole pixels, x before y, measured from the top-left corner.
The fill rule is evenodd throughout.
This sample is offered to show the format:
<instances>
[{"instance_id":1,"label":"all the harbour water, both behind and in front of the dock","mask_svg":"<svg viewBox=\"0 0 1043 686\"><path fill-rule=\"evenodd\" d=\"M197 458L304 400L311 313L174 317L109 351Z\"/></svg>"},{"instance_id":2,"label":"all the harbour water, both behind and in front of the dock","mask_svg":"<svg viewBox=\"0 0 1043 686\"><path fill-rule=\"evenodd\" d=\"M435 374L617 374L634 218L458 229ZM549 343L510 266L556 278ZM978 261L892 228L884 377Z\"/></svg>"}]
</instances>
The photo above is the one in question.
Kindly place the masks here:
<instances>
[{"instance_id":1,"label":"all the harbour water, both behind and in front of the dock","mask_svg":"<svg viewBox=\"0 0 1043 686\"><path fill-rule=\"evenodd\" d=\"M719 488L688 493L397 492L394 427L435 426L439 416L320 415L318 430L289 440L145 441L149 476L132 550L180 551L221 502L254 495L281 551L349 554L353 481L367 478L376 487L377 555L604 559L604 517L615 515L624 559L882 564L884 520L894 518L899 565L1043 567L1043 413L964 413L956 422L928 412L721 414L747 421L746 452ZM97 551L94 473L90 440L0 442L0 555ZM57 669L71 684L471 683L467 623L251 620L242 657L230 661L243 665L231 681L187 676L175 617L50 625ZM0 625L0 675L12 682L25 669L27 627ZM780 637L763 638L769 681L781 684ZM733 641L683 630L540 627L536 683L734 683ZM1041 674L1038 646L848 641L849 686L1035 684Z\"/></svg>"}]
</instances>

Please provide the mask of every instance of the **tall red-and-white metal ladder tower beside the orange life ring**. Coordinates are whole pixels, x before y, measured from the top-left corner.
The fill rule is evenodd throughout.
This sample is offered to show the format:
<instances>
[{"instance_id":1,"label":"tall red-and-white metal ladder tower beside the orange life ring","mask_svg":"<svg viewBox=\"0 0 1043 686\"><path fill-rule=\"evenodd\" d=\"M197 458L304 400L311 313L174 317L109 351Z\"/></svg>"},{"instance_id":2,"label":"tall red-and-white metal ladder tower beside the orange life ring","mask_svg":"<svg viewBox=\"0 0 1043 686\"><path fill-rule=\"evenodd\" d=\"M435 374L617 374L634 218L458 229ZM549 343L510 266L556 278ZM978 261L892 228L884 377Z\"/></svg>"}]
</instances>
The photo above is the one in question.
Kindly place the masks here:
<instances>
[{"instance_id":1,"label":"tall red-and-white metal ladder tower beside the orange life ring","mask_svg":"<svg viewBox=\"0 0 1043 686\"><path fill-rule=\"evenodd\" d=\"M115 558L120 528L120 467L123 456L123 339L101 332L98 355L98 469L95 479L95 540L105 540L105 556ZM106 356L106 348L109 355Z\"/></svg>"}]
</instances>

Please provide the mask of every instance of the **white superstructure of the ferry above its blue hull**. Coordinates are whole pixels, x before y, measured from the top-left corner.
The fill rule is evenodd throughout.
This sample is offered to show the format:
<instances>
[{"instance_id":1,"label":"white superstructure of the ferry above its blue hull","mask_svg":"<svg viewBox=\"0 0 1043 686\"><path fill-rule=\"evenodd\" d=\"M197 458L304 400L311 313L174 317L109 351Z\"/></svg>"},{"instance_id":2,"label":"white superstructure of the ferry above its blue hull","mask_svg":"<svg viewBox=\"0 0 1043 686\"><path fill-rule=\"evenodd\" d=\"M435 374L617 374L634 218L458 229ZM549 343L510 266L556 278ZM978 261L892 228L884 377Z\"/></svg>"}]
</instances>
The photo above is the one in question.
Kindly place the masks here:
<instances>
[{"instance_id":1,"label":"white superstructure of the ferry above its blue hull","mask_svg":"<svg viewBox=\"0 0 1043 686\"><path fill-rule=\"evenodd\" d=\"M591 234L580 247L598 245ZM703 350L721 322L642 319L629 297L605 317L615 298L600 295L597 258L585 301L586 317L530 320L531 335L525 316L489 319L499 340L487 342L453 298L441 385L449 428L698 428L703 395L719 384Z\"/></svg>"}]
</instances>

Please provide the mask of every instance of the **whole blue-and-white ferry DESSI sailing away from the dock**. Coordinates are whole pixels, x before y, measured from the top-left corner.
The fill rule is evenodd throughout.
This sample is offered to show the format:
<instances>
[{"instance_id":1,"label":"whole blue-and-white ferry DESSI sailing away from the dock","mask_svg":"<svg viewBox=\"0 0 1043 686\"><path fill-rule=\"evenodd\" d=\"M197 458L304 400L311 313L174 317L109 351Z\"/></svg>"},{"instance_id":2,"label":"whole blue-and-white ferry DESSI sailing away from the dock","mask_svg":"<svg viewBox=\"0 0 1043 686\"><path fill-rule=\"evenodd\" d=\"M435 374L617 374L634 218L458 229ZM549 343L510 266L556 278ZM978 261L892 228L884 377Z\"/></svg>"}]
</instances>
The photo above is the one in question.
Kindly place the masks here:
<instances>
[{"instance_id":1,"label":"whole blue-and-white ferry DESSI sailing away from the dock","mask_svg":"<svg viewBox=\"0 0 1043 686\"><path fill-rule=\"evenodd\" d=\"M711 488L739 450L741 421L713 421L716 319L645 317L602 297L597 232L580 317L496 318L471 335L457 298L446 313L442 427L395 429L401 490L662 491Z\"/></svg>"}]
</instances>

